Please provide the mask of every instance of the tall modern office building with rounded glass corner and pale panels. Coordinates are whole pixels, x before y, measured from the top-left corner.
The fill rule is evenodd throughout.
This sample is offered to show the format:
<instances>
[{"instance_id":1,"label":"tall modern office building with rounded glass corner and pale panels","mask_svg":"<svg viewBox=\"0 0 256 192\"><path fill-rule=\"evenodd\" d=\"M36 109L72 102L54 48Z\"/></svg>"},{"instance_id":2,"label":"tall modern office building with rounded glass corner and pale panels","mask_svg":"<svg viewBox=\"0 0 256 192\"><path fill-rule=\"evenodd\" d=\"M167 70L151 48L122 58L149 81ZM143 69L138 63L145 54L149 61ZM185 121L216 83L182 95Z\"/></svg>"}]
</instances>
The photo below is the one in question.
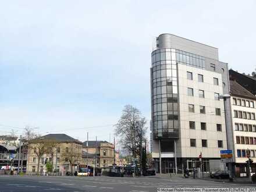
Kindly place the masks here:
<instances>
[{"instance_id":1,"label":"tall modern office building with rounded glass corner and pale panels","mask_svg":"<svg viewBox=\"0 0 256 192\"><path fill-rule=\"evenodd\" d=\"M198 168L201 160L202 169L219 169L220 150L233 150L230 99L226 110L219 99L229 94L227 63L219 61L218 48L199 42L172 34L156 41L150 69L155 167L168 173Z\"/></svg>"}]
</instances>

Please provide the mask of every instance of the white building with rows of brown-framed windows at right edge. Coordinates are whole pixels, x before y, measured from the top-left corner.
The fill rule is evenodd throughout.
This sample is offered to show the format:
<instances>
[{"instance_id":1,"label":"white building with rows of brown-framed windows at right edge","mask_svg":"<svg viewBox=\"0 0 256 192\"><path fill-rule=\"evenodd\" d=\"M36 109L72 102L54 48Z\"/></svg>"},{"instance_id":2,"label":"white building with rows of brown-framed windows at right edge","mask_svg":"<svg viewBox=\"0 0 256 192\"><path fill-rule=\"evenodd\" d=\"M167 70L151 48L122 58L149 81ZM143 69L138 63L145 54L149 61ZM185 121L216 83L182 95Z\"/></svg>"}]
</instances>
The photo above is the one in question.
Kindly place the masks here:
<instances>
[{"instance_id":1,"label":"white building with rows of brown-framed windows at right edge","mask_svg":"<svg viewBox=\"0 0 256 192\"><path fill-rule=\"evenodd\" d=\"M230 94L236 176L247 176L246 161L256 162L256 97L236 81L230 81ZM251 172L256 172L255 163Z\"/></svg>"}]
</instances>

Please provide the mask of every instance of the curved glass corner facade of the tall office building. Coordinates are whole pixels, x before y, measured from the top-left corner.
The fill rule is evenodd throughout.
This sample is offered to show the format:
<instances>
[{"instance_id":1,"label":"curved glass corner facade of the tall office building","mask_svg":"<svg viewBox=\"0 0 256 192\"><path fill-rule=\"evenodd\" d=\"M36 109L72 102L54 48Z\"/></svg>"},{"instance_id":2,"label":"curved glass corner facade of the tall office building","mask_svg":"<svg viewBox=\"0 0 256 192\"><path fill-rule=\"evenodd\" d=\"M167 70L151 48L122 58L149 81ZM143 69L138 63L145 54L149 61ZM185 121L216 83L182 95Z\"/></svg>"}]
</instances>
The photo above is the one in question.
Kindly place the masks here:
<instances>
[{"instance_id":1,"label":"curved glass corner facade of the tall office building","mask_svg":"<svg viewBox=\"0 0 256 192\"><path fill-rule=\"evenodd\" d=\"M154 138L177 138L177 65L175 49L152 52L152 116Z\"/></svg>"}]
</instances>

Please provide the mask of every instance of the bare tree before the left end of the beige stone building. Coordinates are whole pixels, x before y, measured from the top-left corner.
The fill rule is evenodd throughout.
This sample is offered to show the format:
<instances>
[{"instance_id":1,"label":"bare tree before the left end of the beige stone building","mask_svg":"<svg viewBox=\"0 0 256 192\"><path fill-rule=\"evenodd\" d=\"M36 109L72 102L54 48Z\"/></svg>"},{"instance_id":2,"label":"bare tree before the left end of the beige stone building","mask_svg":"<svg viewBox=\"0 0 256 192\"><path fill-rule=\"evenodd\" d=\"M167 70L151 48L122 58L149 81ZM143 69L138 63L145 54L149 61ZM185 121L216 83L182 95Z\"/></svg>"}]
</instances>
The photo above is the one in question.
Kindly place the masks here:
<instances>
[{"instance_id":1,"label":"bare tree before the left end of the beige stone building","mask_svg":"<svg viewBox=\"0 0 256 192\"><path fill-rule=\"evenodd\" d=\"M42 138L35 138L29 141L29 149L34 151L37 155L37 175L39 175L40 159L44 154L49 154L52 146L56 145L55 140L44 140Z\"/></svg>"}]
</instances>

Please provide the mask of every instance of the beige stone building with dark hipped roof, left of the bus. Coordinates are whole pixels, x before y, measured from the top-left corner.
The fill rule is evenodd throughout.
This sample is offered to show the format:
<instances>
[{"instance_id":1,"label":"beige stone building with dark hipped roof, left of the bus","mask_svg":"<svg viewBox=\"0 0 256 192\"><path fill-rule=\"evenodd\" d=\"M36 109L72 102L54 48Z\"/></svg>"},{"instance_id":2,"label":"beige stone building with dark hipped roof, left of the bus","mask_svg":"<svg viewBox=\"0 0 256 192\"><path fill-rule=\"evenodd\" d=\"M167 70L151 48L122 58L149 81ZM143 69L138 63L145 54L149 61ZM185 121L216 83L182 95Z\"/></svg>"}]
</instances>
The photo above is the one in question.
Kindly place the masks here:
<instances>
[{"instance_id":1,"label":"beige stone building with dark hipped roof, left of the bus","mask_svg":"<svg viewBox=\"0 0 256 192\"><path fill-rule=\"evenodd\" d=\"M83 163L82 144L81 141L66 134L47 134L36 140L31 140L27 154L27 172L37 172L38 157L40 158L39 172L41 174L47 172L45 162L51 162L53 171L61 172L62 175L74 171L76 164ZM45 145L44 150L43 145ZM40 151L42 155L38 156Z\"/></svg>"}]
</instances>

